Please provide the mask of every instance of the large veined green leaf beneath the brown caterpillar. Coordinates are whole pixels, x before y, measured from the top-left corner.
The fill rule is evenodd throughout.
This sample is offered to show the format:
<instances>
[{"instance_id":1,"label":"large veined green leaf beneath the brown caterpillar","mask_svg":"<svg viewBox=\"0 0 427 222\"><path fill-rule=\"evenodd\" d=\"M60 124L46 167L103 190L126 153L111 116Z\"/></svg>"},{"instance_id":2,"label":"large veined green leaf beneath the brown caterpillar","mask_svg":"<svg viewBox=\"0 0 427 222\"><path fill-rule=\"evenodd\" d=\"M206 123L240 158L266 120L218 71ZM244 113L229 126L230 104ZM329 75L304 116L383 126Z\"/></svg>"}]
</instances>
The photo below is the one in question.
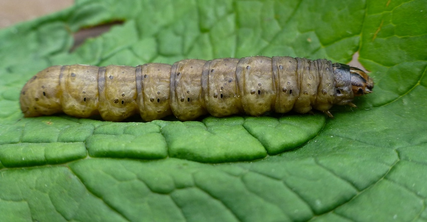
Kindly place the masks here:
<instances>
[{"instance_id":1,"label":"large veined green leaf beneath the brown caterpillar","mask_svg":"<svg viewBox=\"0 0 427 222\"><path fill-rule=\"evenodd\" d=\"M124 21L70 52L82 27ZM2 221L427 221L427 4L101 1L0 30ZM57 64L298 56L375 80L358 109L109 123L23 118Z\"/></svg>"}]
</instances>

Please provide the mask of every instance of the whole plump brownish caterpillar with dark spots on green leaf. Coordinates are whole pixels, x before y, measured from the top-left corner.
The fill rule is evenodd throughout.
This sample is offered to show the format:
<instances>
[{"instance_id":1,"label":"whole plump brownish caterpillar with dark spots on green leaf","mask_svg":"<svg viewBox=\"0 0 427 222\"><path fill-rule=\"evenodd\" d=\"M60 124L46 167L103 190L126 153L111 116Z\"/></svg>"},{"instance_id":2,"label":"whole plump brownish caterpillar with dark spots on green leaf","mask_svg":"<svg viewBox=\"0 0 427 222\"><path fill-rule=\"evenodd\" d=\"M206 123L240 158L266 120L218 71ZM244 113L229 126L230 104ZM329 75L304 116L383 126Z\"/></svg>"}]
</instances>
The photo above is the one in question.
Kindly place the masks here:
<instances>
[{"instance_id":1,"label":"whole plump brownish caterpillar with dark spots on green leaf","mask_svg":"<svg viewBox=\"0 0 427 222\"><path fill-rule=\"evenodd\" d=\"M144 121L174 115L181 121L202 115L260 116L266 112L333 117L334 105L351 105L354 96L372 92L364 71L326 59L254 56L186 59L173 65L51 66L23 87L24 117L65 113L105 121L140 114Z\"/></svg>"}]
</instances>

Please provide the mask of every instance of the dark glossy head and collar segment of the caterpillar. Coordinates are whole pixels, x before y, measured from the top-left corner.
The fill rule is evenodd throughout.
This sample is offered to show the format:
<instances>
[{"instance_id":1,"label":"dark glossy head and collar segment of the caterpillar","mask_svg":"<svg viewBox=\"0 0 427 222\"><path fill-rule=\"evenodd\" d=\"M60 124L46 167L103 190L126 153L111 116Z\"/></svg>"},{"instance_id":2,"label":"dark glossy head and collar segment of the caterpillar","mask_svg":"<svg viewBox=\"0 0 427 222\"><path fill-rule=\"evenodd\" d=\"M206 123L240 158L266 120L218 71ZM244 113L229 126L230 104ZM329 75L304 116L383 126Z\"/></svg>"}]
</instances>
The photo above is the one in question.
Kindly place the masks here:
<instances>
[{"instance_id":1,"label":"dark glossy head and collar segment of the caterpillar","mask_svg":"<svg viewBox=\"0 0 427 222\"><path fill-rule=\"evenodd\" d=\"M364 71L342 63L332 65L336 81L334 104L353 105L351 102L354 96L372 92L374 82Z\"/></svg>"}]
</instances>

